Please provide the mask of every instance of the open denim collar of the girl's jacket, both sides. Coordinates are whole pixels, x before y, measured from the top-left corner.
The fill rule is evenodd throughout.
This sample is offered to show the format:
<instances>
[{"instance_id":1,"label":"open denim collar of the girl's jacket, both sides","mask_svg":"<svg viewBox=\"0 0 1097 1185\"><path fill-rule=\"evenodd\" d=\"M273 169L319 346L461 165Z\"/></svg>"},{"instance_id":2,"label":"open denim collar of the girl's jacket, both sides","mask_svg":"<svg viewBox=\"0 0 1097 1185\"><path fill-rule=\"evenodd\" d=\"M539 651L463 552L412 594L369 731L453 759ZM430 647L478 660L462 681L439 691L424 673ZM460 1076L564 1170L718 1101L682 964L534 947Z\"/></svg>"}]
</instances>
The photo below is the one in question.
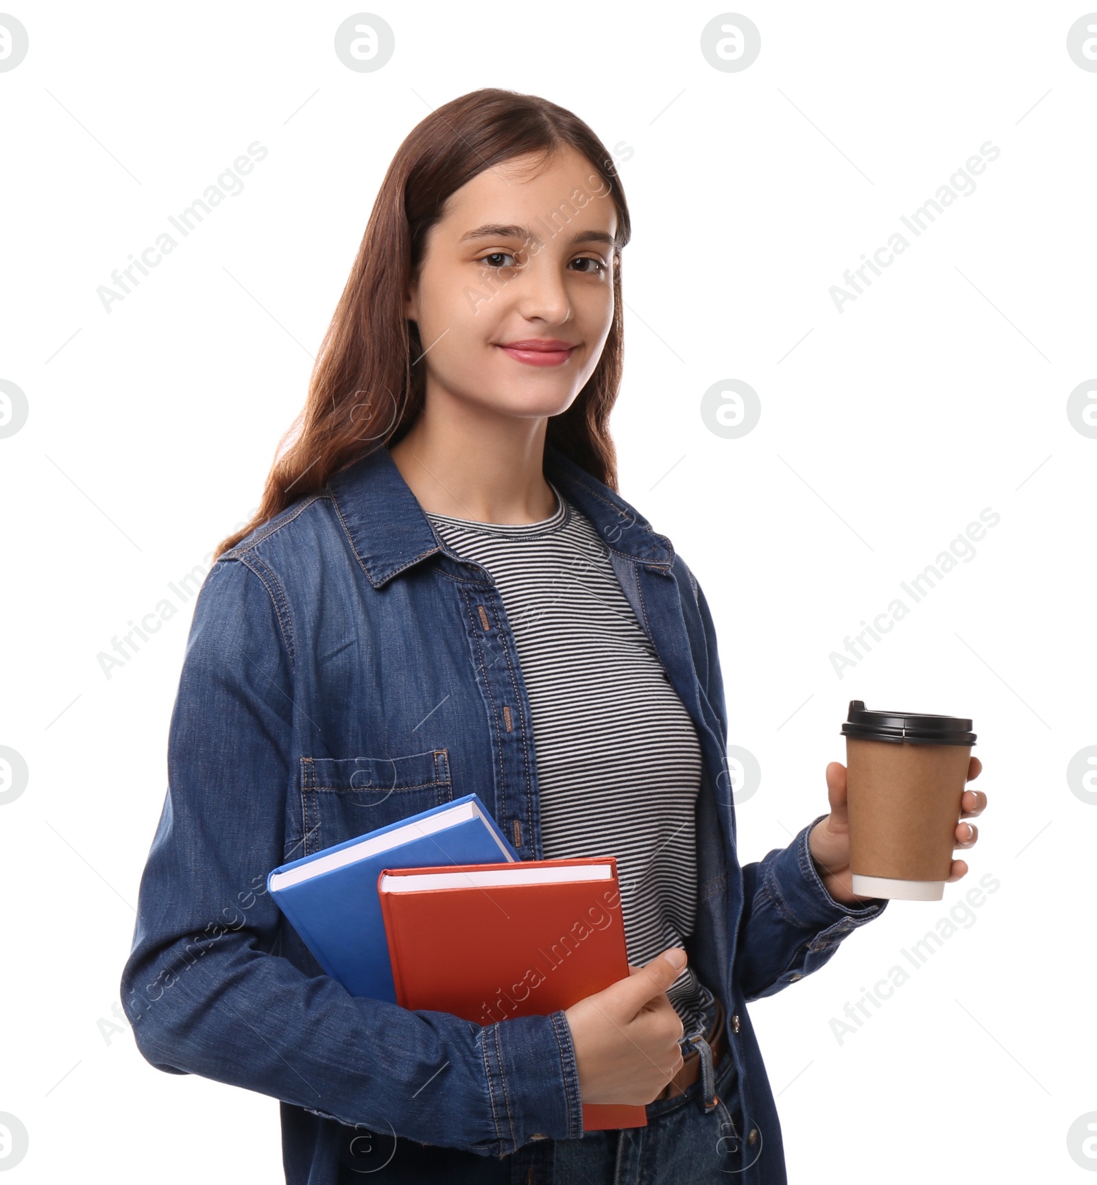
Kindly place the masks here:
<instances>
[{"instance_id":1,"label":"open denim collar of the girl's jacket, both sides","mask_svg":"<svg viewBox=\"0 0 1097 1185\"><path fill-rule=\"evenodd\" d=\"M666 536L656 533L635 507L548 443L544 472L590 519L611 551L646 564L672 563L674 549ZM385 446L332 476L328 491L374 588L435 552L453 555L435 533Z\"/></svg>"}]
</instances>

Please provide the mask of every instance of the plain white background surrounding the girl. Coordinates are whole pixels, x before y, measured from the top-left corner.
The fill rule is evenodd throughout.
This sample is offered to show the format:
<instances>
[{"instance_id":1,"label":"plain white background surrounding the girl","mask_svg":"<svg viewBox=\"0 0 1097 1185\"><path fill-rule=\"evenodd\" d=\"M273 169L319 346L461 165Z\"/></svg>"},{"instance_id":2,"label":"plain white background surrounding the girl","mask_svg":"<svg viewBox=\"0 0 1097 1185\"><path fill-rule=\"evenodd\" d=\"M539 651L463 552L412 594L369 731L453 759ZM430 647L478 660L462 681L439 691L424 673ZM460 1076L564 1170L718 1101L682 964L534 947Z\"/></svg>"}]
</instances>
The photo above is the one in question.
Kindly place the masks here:
<instances>
[{"instance_id":1,"label":"plain white background surrounding the girl","mask_svg":"<svg viewBox=\"0 0 1097 1185\"><path fill-rule=\"evenodd\" d=\"M405 2L372 9L396 52L359 73L333 50L346 5L4 2L30 34L0 73L0 378L30 404L0 440L0 744L30 769L0 806L12 1181L281 1179L274 1100L153 1069L111 1012L192 602L110 678L97 655L257 505L393 152L485 85L618 154L621 491L713 608L731 743L762 768L742 861L827 811L851 699L979 734L968 877L751 1006L790 1180L1086 1179L1066 1136L1097 1109L1097 806L1066 767L1097 743L1097 440L1066 399L1097 373L1097 73L1066 34L1088 9L751 0L761 55L723 72L700 52L719 7ZM244 191L104 312L111 271L256 140ZM986 141L975 192L838 312L830 286ZM737 440L700 415L731 378L762 405ZM839 677L832 652L984 507L975 558ZM832 1018L987 875L840 1043Z\"/></svg>"}]
</instances>

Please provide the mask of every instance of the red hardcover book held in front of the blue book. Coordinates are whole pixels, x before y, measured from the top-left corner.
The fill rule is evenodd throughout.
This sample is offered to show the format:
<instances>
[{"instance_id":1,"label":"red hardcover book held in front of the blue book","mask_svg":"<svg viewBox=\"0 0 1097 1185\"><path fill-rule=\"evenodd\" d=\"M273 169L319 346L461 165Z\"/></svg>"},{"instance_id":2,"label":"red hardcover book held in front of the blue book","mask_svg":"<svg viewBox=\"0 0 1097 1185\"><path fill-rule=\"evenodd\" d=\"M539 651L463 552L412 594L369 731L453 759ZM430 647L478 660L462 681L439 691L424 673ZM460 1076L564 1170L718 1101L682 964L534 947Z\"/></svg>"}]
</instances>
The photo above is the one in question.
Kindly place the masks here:
<instances>
[{"instance_id":1,"label":"red hardcover book held in front of the blue book","mask_svg":"<svg viewBox=\"0 0 1097 1185\"><path fill-rule=\"evenodd\" d=\"M396 999L489 1025L547 1016L629 974L611 856L392 869L377 880ZM583 1129L647 1127L583 1103Z\"/></svg>"}]
</instances>

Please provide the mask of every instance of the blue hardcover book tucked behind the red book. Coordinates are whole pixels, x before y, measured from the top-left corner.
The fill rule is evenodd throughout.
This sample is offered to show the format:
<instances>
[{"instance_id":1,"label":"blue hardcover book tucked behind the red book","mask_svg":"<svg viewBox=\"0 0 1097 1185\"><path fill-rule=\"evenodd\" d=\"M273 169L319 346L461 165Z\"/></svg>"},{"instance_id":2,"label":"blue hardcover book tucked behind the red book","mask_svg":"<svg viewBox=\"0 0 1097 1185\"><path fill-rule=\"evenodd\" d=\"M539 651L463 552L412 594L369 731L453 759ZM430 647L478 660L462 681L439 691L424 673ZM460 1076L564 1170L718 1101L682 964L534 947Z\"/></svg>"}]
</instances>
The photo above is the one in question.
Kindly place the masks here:
<instances>
[{"instance_id":1,"label":"blue hardcover book tucked behind the red book","mask_svg":"<svg viewBox=\"0 0 1097 1185\"><path fill-rule=\"evenodd\" d=\"M377 878L385 869L520 860L475 794L291 860L267 889L316 961L352 995L397 1003Z\"/></svg>"}]
</instances>

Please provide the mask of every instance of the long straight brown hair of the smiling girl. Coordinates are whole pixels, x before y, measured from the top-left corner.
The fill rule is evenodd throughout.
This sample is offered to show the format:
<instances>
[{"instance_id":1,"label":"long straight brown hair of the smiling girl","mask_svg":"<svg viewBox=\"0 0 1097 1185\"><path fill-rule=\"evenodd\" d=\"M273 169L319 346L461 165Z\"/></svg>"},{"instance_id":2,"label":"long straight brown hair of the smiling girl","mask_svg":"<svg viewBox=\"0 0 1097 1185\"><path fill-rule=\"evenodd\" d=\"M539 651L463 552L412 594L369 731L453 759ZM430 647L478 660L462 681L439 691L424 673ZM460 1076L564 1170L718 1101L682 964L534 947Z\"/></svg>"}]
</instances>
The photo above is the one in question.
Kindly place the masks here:
<instances>
[{"instance_id":1,"label":"long straight brown hair of the smiling girl","mask_svg":"<svg viewBox=\"0 0 1097 1185\"><path fill-rule=\"evenodd\" d=\"M214 559L291 502L381 446L394 444L423 408L425 367L418 326L404 294L418 275L426 236L447 199L479 173L514 156L547 160L572 147L601 175L617 209L615 251L631 228L612 158L576 115L537 95L486 88L462 95L418 123L381 181L342 296L320 346L301 414L283 434L255 517L218 544ZM564 201L557 213L567 219ZM548 418L546 440L617 489L609 414L623 360L620 256L614 319L594 373L566 411Z\"/></svg>"}]
</instances>

